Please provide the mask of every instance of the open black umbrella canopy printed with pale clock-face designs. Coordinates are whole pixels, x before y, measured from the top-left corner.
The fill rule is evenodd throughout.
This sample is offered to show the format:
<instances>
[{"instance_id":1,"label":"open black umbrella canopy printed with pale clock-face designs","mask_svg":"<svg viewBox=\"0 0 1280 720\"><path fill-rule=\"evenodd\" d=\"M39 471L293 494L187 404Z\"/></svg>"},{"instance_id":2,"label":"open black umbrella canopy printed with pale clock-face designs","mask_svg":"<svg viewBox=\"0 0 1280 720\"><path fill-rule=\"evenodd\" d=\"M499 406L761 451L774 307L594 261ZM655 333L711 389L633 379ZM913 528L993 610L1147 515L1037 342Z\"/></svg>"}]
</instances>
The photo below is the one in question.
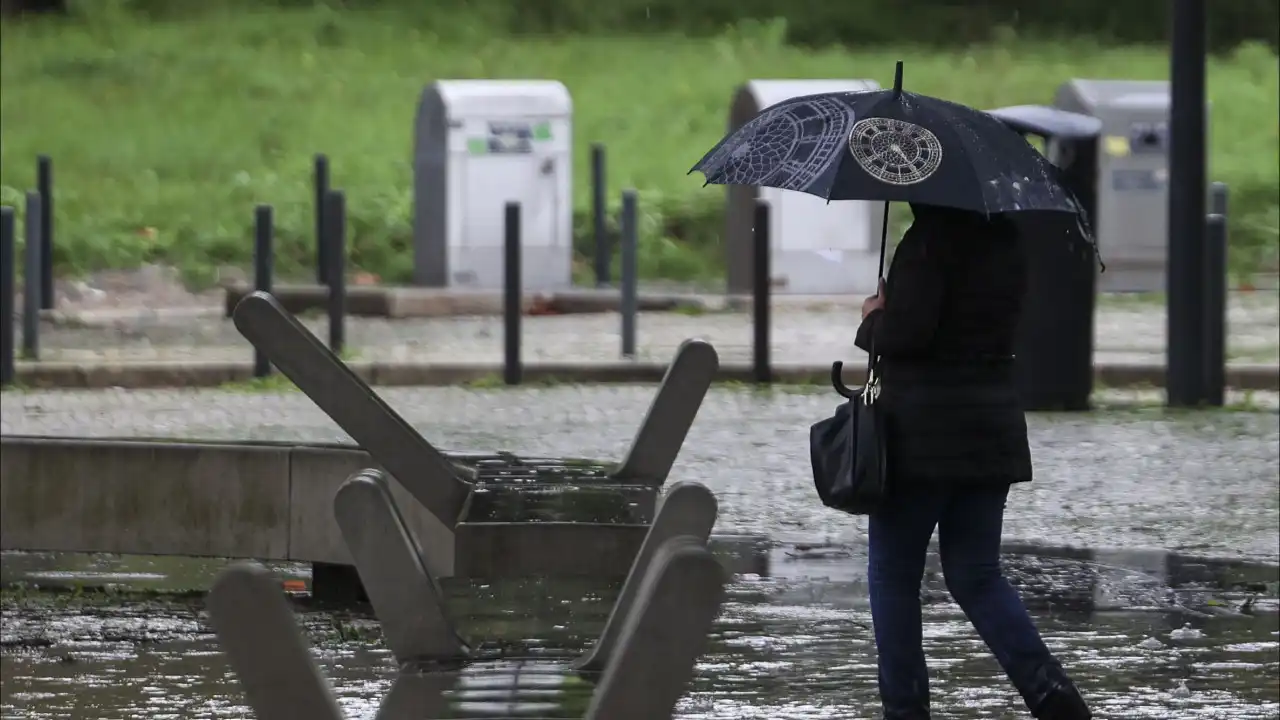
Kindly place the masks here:
<instances>
[{"instance_id":1,"label":"open black umbrella canopy printed with pale clock-face designs","mask_svg":"<svg viewBox=\"0 0 1280 720\"><path fill-rule=\"evenodd\" d=\"M986 111L905 92L902 63L893 90L805 95L764 109L694 170L708 184L827 200L1082 213L1057 168L1021 135Z\"/></svg>"}]
</instances>

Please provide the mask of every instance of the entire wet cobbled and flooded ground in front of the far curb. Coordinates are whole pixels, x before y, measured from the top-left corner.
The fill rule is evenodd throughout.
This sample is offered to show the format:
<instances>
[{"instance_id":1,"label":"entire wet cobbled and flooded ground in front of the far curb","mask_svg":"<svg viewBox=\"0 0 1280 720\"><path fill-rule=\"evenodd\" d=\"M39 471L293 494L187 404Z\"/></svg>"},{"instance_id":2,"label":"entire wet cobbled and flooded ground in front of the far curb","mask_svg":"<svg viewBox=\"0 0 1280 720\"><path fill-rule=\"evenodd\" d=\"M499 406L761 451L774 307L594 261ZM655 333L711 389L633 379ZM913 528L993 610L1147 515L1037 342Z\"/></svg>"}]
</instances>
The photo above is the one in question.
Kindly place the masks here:
<instances>
[{"instance_id":1,"label":"entire wet cobbled and flooded ground in front of the far curb","mask_svg":"<svg viewBox=\"0 0 1280 720\"><path fill-rule=\"evenodd\" d=\"M621 459L653 387L516 391L388 389L429 439L453 451ZM719 532L788 543L768 578L731 589L681 701L681 720L873 717L874 647L863 521L823 510L808 470L808 425L829 393L713 389L672 479L708 484ZM1029 418L1037 480L1012 493L1011 541L1156 547L1252 561L1280 557L1280 415L1151 409ZM0 404L4 434L348 441L297 392L20 392ZM157 478L157 482L163 479ZM796 543L838 543L803 551ZM1194 573L1103 561L1006 559L1046 639L1102 719L1274 719L1280 714L1280 600L1275 573L1229 585ZM1140 564L1139 564L1140 565ZM215 568L182 559L0 556L0 583L202 587ZM282 579L305 579L300 568ZM177 585L166 585L178 577ZM1194 579L1194 578L1193 578ZM451 607L483 660L456 700L475 717L509 703L571 717L584 687L564 661L594 639L616 588L451 585ZM936 562L923 591L937 717L1025 717ZM300 620L349 717L372 719L392 661L378 624L351 610L300 605ZM522 659L522 660L520 660ZM0 597L4 720L215 719L244 708L197 596ZM506 689L504 689L506 688ZM553 707L554 706L554 707ZM557 708L558 707L558 708Z\"/></svg>"}]
</instances>

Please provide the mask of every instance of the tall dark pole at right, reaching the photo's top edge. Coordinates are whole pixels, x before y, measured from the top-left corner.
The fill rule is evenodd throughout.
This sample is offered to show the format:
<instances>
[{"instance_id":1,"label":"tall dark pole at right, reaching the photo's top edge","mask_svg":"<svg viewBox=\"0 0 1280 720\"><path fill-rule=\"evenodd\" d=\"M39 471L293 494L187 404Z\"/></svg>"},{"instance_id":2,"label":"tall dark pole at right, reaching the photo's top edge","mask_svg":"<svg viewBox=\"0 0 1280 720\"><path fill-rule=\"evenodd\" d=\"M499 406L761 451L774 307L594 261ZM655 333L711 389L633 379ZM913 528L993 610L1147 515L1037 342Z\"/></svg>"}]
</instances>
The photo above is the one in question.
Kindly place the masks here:
<instances>
[{"instance_id":1,"label":"tall dark pole at right, reaching the photo's top edge","mask_svg":"<svg viewBox=\"0 0 1280 720\"><path fill-rule=\"evenodd\" d=\"M1204 0L1172 0L1169 117L1169 360L1171 407L1202 404L1204 388Z\"/></svg>"}]
</instances>

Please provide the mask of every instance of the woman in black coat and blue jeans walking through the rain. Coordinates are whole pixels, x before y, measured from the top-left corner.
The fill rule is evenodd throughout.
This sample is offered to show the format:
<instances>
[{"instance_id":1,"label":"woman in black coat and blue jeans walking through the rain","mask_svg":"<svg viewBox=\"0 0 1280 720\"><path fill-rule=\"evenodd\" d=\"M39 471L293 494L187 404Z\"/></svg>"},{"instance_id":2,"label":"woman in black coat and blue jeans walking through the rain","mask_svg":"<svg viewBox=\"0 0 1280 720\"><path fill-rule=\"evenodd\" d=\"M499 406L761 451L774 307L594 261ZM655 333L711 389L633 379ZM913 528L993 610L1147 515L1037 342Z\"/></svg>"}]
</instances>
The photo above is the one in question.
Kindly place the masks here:
<instances>
[{"instance_id":1,"label":"woman in black coat and blue jeans walking through the rain","mask_svg":"<svg viewBox=\"0 0 1280 720\"><path fill-rule=\"evenodd\" d=\"M947 589L1041 720L1092 717L1000 569L1005 501L1032 479L1012 379L1027 292L1000 215L911 205L858 347L879 355L890 498L870 516L872 616L884 717L929 719L920 580L934 527Z\"/></svg>"}]
</instances>

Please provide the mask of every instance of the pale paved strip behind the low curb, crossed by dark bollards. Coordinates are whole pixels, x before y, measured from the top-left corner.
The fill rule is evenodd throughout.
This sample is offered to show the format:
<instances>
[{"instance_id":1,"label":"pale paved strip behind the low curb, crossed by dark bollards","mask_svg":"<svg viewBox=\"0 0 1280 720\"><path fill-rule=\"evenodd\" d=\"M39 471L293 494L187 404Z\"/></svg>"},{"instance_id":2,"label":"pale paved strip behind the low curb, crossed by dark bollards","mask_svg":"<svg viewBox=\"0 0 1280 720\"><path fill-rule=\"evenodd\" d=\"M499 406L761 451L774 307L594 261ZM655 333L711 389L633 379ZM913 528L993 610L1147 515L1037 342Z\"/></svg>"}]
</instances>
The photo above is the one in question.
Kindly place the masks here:
<instances>
[{"instance_id":1,"label":"pale paved strip behind the low curb, crossed by dark bollards","mask_svg":"<svg viewBox=\"0 0 1280 720\"><path fill-rule=\"evenodd\" d=\"M773 307L772 355L776 363L813 363L864 354L852 346L861 299L778 299ZM250 345L219 307L198 313L159 313L147 306L115 313L105 320L45 323L41 359L60 361L241 360L252 357ZM210 311L212 315L210 315ZM1280 363L1280 300L1271 292L1233 292L1228 313L1228 360L1231 364ZM325 337L319 314L303 323ZM529 316L524 319L526 361L573 363L617 360L621 352L617 313ZM746 361L751 347L748 313L643 313L636 320L636 357L664 363L685 338L712 342L726 361ZM352 319L347 345L357 355L384 361L499 363L502 318L463 316L387 320ZM1164 304L1125 296L1103 296L1094 322L1098 363L1164 364L1166 313Z\"/></svg>"}]
</instances>

